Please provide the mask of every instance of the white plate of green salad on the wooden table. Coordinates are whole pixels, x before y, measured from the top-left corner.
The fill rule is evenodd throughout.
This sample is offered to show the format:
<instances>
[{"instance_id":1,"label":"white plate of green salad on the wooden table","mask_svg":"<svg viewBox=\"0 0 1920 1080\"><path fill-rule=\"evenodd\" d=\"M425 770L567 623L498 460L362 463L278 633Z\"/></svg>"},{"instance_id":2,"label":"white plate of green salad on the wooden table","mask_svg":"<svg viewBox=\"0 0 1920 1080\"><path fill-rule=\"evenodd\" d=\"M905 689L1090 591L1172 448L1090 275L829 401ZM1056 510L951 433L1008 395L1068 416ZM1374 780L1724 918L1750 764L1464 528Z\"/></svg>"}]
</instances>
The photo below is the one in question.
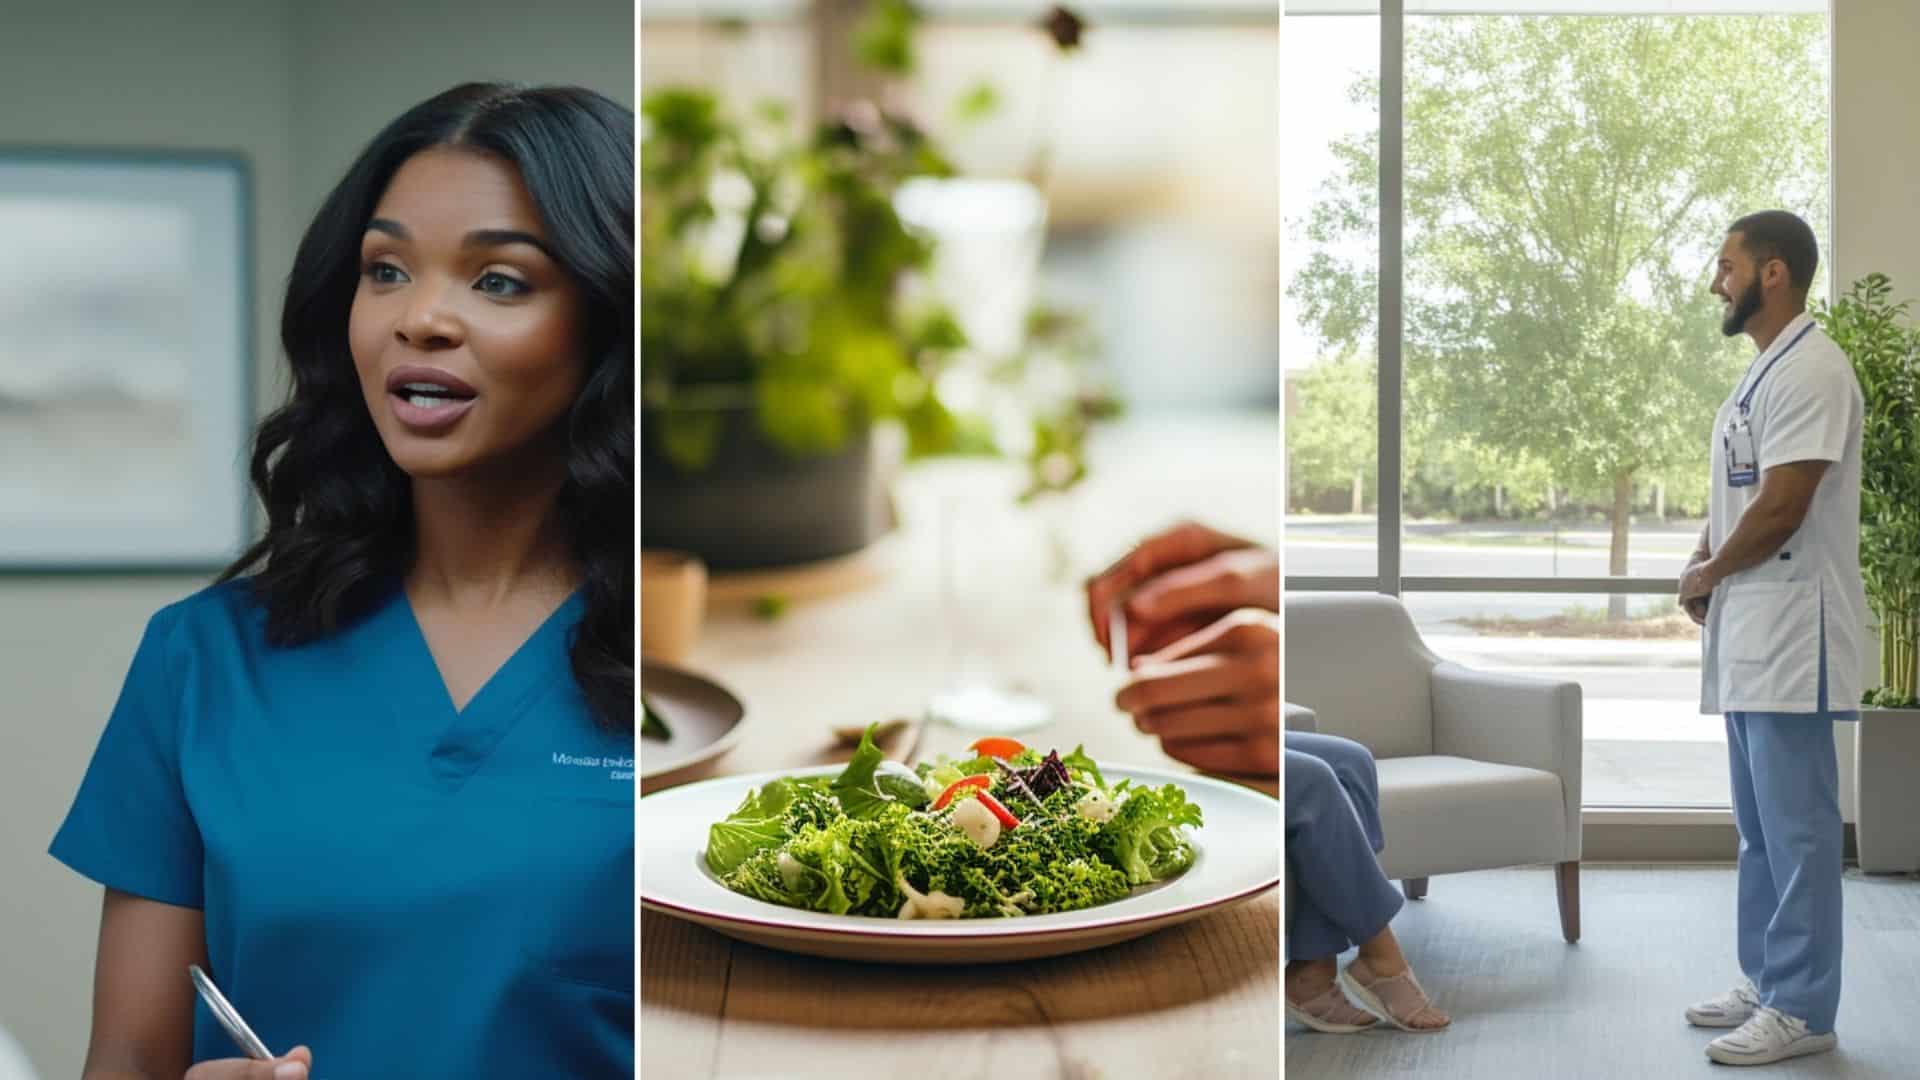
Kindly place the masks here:
<instances>
[{"instance_id":1,"label":"white plate of green salad on the wooden table","mask_svg":"<svg viewBox=\"0 0 1920 1080\"><path fill-rule=\"evenodd\" d=\"M824 957L996 963L1110 945L1281 880L1279 803L1225 780L983 738L722 776L639 801L639 899Z\"/></svg>"}]
</instances>

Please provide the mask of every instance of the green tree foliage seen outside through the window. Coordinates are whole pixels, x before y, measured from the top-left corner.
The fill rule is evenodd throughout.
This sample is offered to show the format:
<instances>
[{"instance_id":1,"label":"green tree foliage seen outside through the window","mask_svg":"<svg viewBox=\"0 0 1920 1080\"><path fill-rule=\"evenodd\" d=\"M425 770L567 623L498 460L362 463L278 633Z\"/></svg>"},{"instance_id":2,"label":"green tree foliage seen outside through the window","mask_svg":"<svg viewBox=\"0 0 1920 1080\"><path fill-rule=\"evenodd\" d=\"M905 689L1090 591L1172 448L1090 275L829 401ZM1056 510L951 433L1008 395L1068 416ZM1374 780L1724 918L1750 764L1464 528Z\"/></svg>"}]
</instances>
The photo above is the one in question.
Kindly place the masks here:
<instances>
[{"instance_id":1,"label":"green tree foliage seen outside through the window","mask_svg":"<svg viewBox=\"0 0 1920 1080\"><path fill-rule=\"evenodd\" d=\"M1761 208L1824 231L1824 33L1818 15L1768 15L1428 19L1409 35L1409 502L1423 484L1498 484L1530 509L1553 484L1611 511L1624 475L1703 505L1705 429L1751 352L1722 340L1711 254ZM1377 81L1352 94L1379 100ZM1377 267L1340 252L1377 234L1377 133L1334 160L1288 292L1329 354L1373 356ZM1369 365L1317 365L1300 394L1292 496L1356 473L1371 488L1356 430L1373 429Z\"/></svg>"}]
</instances>

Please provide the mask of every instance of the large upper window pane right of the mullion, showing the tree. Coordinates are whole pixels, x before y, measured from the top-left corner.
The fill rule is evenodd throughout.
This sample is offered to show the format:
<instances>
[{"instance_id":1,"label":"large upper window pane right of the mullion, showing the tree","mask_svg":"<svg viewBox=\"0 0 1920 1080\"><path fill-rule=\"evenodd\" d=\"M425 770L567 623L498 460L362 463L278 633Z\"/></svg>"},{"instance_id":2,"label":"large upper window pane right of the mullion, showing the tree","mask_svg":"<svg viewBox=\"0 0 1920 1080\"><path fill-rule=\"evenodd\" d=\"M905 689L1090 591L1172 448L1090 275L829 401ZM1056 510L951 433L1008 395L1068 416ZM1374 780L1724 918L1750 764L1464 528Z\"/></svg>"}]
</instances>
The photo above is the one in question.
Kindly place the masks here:
<instances>
[{"instance_id":1,"label":"large upper window pane right of the mullion, showing the tree","mask_svg":"<svg viewBox=\"0 0 1920 1080\"><path fill-rule=\"evenodd\" d=\"M1405 573L1676 575L1753 356L1707 290L1726 227L1828 234L1824 17L1405 38Z\"/></svg>"}]
</instances>

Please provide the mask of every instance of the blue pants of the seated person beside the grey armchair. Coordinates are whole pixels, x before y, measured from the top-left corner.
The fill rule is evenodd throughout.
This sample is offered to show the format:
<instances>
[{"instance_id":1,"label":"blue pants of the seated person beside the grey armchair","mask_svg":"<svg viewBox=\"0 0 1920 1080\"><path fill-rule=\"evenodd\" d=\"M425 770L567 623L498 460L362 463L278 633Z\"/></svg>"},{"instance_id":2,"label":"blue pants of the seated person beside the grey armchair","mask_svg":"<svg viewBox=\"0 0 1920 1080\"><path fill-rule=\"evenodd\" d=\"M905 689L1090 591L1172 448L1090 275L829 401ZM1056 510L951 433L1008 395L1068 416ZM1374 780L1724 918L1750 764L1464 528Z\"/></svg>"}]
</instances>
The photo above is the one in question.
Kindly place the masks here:
<instances>
[{"instance_id":1,"label":"blue pants of the seated person beside the grey armchair","mask_svg":"<svg viewBox=\"0 0 1920 1080\"><path fill-rule=\"evenodd\" d=\"M1405 903L1375 859L1380 780L1357 742L1286 732L1286 861L1298 894L1286 959L1334 957L1392 922Z\"/></svg>"}]
</instances>

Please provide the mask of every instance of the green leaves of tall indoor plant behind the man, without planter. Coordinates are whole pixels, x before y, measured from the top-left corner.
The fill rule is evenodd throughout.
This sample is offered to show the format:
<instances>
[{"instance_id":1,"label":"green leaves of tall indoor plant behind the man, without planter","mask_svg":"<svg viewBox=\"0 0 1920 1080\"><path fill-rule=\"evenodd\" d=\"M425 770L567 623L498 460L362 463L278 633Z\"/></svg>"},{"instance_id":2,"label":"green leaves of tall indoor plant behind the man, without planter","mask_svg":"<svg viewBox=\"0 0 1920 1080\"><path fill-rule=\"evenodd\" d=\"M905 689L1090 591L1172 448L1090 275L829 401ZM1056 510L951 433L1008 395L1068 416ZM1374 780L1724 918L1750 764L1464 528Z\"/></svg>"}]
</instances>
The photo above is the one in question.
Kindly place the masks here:
<instances>
[{"instance_id":1,"label":"green leaves of tall indoor plant behind the man, without planter","mask_svg":"<svg viewBox=\"0 0 1920 1080\"><path fill-rule=\"evenodd\" d=\"M1880 700L1905 703L1916 684L1920 619L1920 329L1907 302L1874 273L1834 304L1814 306L1820 329L1853 361L1864 398L1860 429L1860 577L1880 623Z\"/></svg>"}]
</instances>

